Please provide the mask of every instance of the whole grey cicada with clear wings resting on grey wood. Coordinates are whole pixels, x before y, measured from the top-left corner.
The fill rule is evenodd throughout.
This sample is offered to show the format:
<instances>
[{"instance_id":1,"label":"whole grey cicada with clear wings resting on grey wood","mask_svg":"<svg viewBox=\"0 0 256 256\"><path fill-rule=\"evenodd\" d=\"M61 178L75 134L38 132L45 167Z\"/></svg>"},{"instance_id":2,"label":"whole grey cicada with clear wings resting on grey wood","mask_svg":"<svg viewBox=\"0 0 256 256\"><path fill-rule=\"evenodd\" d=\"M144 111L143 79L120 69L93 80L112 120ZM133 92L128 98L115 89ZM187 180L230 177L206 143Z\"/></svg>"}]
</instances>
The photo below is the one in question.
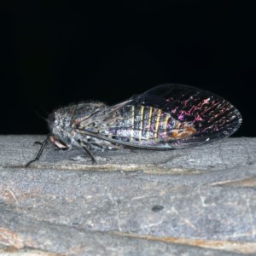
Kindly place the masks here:
<instances>
[{"instance_id":1,"label":"whole grey cicada with clear wings resting on grey wood","mask_svg":"<svg viewBox=\"0 0 256 256\"><path fill-rule=\"evenodd\" d=\"M161 84L111 107L89 102L60 108L49 115L45 145L91 151L122 147L189 148L229 137L241 125L241 113L224 98L183 84Z\"/></svg>"}]
</instances>

